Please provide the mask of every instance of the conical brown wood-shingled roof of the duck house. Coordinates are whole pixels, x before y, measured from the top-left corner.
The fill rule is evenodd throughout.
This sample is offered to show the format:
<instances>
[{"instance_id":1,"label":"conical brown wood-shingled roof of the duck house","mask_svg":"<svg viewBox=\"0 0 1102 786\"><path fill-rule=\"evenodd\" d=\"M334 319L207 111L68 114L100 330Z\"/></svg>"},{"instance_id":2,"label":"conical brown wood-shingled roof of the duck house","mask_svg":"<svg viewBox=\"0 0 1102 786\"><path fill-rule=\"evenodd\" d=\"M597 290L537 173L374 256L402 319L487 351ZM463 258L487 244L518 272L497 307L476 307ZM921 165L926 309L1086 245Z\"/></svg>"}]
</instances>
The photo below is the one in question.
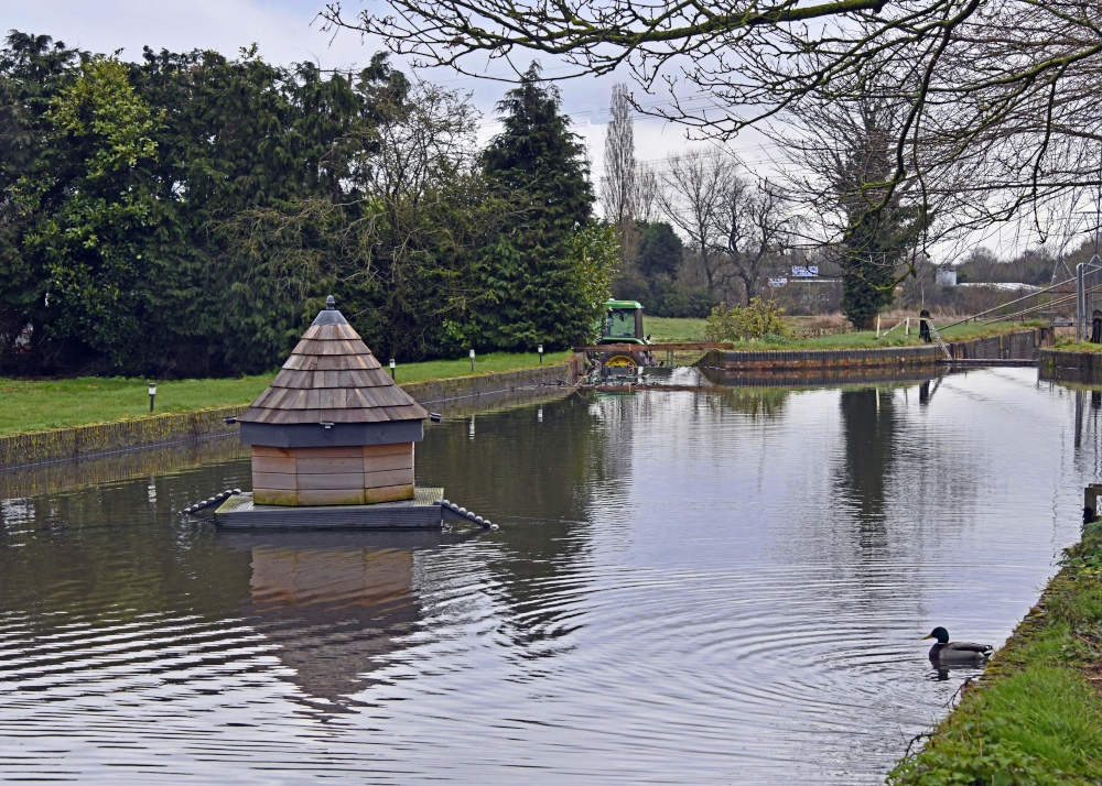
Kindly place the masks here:
<instances>
[{"instance_id":1,"label":"conical brown wood-shingled roof of the duck house","mask_svg":"<svg viewBox=\"0 0 1102 786\"><path fill-rule=\"evenodd\" d=\"M271 425L423 421L429 413L395 384L341 312L322 310L241 423Z\"/></svg>"}]
</instances>

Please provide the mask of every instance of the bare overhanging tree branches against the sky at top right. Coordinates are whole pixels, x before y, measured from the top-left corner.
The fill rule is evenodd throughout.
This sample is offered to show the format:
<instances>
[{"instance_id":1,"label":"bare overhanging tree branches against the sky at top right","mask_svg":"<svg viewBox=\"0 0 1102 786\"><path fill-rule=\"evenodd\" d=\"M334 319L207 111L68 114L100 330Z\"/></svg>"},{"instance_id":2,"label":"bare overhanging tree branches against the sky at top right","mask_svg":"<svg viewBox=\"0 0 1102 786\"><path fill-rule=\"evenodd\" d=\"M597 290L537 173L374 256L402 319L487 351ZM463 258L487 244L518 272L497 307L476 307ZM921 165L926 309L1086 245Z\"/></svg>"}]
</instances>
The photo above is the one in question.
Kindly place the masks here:
<instances>
[{"instance_id":1,"label":"bare overhanging tree branches against the sky at top right","mask_svg":"<svg viewBox=\"0 0 1102 786\"><path fill-rule=\"evenodd\" d=\"M564 62L558 78L630 72L669 100L639 107L726 138L806 100L857 98L875 78L905 107L882 201L952 183L962 225L1003 220L1100 181L1102 4L1088 0L389 0L322 12L431 65L485 73L486 57ZM522 58L527 62L527 57ZM519 63L523 67L525 63ZM706 95L705 102L693 99ZM919 148L933 155L912 154ZM961 189L962 188L962 189Z\"/></svg>"}]
</instances>

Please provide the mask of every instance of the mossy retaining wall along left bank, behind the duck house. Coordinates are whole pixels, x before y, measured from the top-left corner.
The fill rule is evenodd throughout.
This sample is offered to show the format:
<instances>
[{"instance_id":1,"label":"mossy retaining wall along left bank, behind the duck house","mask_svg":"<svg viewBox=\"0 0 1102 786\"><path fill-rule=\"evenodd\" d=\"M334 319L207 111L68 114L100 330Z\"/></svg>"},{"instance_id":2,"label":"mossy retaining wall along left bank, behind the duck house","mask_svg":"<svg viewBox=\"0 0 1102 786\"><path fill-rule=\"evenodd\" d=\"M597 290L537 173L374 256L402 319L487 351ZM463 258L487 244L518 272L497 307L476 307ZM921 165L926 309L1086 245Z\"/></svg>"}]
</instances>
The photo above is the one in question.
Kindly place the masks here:
<instances>
[{"instance_id":1,"label":"mossy retaining wall along left bank, behind the duck house","mask_svg":"<svg viewBox=\"0 0 1102 786\"><path fill-rule=\"evenodd\" d=\"M553 365L410 382L401 387L429 410L445 415L466 413L479 405L511 403L541 386L573 385L582 360L574 357ZM237 429L226 418L246 408L245 404L220 406L2 436L0 470L225 436Z\"/></svg>"}]
</instances>

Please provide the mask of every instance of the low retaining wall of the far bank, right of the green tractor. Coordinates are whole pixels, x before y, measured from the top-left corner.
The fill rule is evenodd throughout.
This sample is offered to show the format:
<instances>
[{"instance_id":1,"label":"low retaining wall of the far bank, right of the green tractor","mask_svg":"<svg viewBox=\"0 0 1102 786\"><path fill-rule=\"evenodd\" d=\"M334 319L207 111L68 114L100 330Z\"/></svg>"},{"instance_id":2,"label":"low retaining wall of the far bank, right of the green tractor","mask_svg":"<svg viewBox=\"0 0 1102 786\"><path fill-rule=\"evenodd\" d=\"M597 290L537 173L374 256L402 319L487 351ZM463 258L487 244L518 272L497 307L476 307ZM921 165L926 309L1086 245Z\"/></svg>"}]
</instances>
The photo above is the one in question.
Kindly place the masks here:
<instances>
[{"instance_id":1,"label":"low retaining wall of the far bank, right of the green tractor","mask_svg":"<svg viewBox=\"0 0 1102 786\"><path fill-rule=\"evenodd\" d=\"M1027 328L968 341L947 341L946 347L953 360L1031 360L1037 350L1051 342L1050 328ZM713 349L698 365L728 372L820 370L933 365L943 359L941 349L933 343L861 349Z\"/></svg>"}]
</instances>

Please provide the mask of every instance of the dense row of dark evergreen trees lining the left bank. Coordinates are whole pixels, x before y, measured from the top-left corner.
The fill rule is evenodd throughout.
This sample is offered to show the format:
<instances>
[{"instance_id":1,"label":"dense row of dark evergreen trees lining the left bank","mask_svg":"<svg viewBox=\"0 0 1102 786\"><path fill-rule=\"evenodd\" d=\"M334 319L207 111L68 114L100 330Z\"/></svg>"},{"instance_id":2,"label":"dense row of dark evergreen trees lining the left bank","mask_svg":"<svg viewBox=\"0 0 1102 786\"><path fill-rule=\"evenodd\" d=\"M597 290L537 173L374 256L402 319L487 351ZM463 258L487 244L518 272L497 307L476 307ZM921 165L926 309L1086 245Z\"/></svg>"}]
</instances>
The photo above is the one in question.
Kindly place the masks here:
<instances>
[{"instance_id":1,"label":"dense row of dark evergreen trees lining the left bank","mask_svg":"<svg viewBox=\"0 0 1102 786\"><path fill-rule=\"evenodd\" d=\"M558 99L523 89L479 156L466 100L381 55L129 64L12 32L0 372L257 373L328 294L400 360L584 338L616 249Z\"/></svg>"}]
</instances>

